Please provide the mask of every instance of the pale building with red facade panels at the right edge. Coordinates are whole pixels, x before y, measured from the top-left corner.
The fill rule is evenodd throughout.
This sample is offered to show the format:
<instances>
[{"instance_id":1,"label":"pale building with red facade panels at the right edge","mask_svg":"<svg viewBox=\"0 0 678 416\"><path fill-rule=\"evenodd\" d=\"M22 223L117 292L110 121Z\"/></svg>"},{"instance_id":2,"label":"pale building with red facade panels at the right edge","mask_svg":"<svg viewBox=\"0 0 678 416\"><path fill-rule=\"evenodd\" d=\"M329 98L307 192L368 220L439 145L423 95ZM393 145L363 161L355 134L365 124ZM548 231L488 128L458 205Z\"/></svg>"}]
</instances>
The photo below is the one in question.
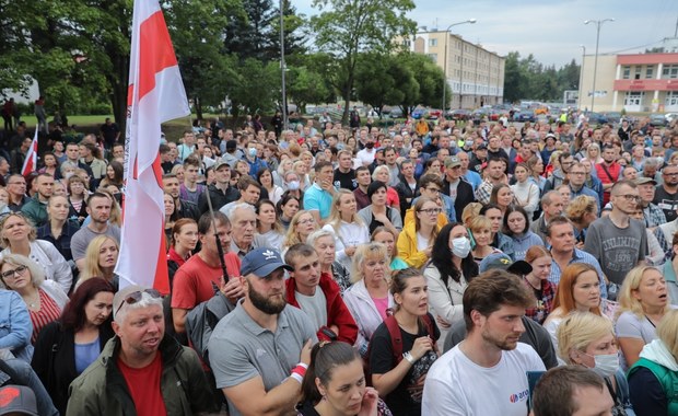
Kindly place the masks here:
<instances>
[{"instance_id":1,"label":"pale building with red facade panels at the right edge","mask_svg":"<svg viewBox=\"0 0 678 416\"><path fill-rule=\"evenodd\" d=\"M594 62L594 55L584 57L580 108L678 112L678 53L598 55L595 96Z\"/></svg>"}]
</instances>

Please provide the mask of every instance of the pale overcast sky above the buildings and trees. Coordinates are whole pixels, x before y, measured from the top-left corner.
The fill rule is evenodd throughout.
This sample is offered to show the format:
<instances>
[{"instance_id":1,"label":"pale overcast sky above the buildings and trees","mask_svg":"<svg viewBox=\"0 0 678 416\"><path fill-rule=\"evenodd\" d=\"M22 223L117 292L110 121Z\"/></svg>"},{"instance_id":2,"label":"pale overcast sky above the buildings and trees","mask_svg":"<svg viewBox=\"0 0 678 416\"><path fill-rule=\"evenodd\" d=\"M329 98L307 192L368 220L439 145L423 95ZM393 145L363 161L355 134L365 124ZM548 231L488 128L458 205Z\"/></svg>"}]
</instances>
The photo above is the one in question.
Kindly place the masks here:
<instances>
[{"instance_id":1,"label":"pale overcast sky above the buildings and trees","mask_svg":"<svg viewBox=\"0 0 678 416\"><path fill-rule=\"evenodd\" d=\"M293 0L300 13L316 14L312 0ZM585 20L615 18L600 30L599 53L632 54L659 46L673 37L678 0L414 0L410 19L429 30L477 19L476 24L455 26L452 32L500 55L517 50L533 54L545 65L560 67L573 58L582 60L582 47L593 55L596 25ZM626 50L630 49L630 50Z\"/></svg>"}]
</instances>

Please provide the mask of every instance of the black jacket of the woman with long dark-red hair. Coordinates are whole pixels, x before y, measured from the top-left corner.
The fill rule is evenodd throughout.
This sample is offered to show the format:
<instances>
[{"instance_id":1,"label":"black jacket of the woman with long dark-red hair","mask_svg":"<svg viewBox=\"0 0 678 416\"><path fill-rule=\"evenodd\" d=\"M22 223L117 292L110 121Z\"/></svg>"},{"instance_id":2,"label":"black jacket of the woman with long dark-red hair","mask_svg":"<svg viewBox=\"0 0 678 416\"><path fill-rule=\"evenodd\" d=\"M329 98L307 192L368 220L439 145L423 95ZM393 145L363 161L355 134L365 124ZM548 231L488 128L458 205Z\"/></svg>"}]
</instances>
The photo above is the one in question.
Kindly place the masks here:
<instances>
[{"instance_id":1,"label":"black jacket of the woman with long dark-red hair","mask_svg":"<svg viewBox=\"0 0 678 416\"><path fill-rule=\"evenodd\" d=\"M105 322L98 332L100 351L114 335L110 321ZM66 415L68 386L79 375L75 372L75 334L71 330L63 330L58 321L47 324L35 342L31 366L51 396L55 407L61 415Z\"/></svg>"}]
</instances>

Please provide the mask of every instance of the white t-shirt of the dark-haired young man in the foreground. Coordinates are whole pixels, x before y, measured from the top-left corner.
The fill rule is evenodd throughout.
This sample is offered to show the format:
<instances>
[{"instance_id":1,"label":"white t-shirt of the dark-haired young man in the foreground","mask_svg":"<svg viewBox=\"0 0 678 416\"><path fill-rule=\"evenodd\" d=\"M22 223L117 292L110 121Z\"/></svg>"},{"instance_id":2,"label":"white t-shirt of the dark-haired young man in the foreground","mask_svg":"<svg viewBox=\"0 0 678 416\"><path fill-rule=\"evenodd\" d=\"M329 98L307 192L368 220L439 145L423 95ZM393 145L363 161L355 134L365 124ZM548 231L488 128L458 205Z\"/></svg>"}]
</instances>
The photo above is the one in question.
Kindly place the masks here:
<instances>
[{"instance_id":1,"label":"white t-shirt of the dark-haired young man in the foreground","mask_svg":"<svg viewBox=\"0 0 678 416\"><path fill-rule=\"evenodd\" d=\"M429 370L421 414L527 415L529 391L526 373L546 371L533 347L518 343L514 350L502 351L496 366L486 368L466 357L459 345L439 358Z\"/></svg>"}]
</instances>

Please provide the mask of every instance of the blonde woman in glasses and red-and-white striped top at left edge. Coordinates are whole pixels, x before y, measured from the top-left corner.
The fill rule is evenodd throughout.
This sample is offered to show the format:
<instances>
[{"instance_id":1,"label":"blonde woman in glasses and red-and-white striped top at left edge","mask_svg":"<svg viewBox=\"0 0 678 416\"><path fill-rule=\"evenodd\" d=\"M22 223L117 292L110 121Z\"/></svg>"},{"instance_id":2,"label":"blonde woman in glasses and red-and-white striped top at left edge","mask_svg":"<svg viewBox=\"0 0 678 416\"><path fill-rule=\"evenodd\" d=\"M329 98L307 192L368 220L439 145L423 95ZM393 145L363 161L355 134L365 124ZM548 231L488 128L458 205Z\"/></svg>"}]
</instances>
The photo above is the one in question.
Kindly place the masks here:
<instances>
[{"instance_id":1,"label":"blonde woman in glasses and red-and-white striped top at left edge","mask_svg":"<svg viewBox=\"0 0 678 416\"><path fill-rule=\"evenodd\" d=\"M37 263L19 254L2 257L0 279L4 289L15 291L26 303L33 323L31 343L35 344L40 330L59 319L68 296L55 281L45 280L45 273Z\"/></svg>"}]
</instances>

